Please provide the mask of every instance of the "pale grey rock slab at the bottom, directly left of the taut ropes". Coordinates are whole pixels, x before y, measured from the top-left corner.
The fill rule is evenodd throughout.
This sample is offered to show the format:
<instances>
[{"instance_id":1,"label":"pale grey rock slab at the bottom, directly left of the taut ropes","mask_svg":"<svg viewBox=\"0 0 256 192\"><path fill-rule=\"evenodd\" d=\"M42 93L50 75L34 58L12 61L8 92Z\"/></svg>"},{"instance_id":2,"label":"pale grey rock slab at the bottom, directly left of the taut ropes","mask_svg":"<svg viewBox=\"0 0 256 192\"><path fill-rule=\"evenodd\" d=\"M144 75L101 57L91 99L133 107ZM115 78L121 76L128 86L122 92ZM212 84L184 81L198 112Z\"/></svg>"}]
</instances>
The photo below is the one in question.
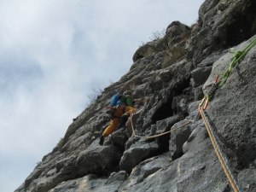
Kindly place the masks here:
<instances>
[{"instance_id":1,"label":"pale grey rock slab at the bottom, directly left of the taut ropes","mask_svg":"<svg viewBox=\"0 0 256 192\"><path fill-rule=\"evenodd\" d=\"M195 130L183 144L184 154L178 159L177 191L222 191L227 180L223 179L224 172L207 136L207 130L201 120L194 125Z\"/></svg>"}]
</instances>

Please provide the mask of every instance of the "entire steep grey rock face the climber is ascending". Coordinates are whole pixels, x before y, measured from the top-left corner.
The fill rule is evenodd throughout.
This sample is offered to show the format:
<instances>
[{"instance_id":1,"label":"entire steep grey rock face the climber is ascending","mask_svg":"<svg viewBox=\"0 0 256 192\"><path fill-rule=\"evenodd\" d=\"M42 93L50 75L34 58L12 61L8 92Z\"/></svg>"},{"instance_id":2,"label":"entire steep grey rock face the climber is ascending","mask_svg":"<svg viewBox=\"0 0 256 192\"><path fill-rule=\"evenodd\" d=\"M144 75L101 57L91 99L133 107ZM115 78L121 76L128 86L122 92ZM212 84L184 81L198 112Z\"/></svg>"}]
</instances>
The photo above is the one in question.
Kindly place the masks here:
<instances>
[{"instance_id":1,"label":"entire steep grey rock face the climber is ascending","mask_svg":"<svg viewBox=\"0 0 256 192\"><path fill-rule=\"evenodd\" d=\"M197 107L230 66L229 51L256 38L255 9L256 1L207 0L193 28L173 21L164 38L136 51L131 70L79 114L15 192L232 191ZM256 45L205 111L238 188L250 192L256 191L255 62ZM124 90L141 98L135 132L124 116L100 146L110 120L104 107Z\"/></svg>"}]
</instances>

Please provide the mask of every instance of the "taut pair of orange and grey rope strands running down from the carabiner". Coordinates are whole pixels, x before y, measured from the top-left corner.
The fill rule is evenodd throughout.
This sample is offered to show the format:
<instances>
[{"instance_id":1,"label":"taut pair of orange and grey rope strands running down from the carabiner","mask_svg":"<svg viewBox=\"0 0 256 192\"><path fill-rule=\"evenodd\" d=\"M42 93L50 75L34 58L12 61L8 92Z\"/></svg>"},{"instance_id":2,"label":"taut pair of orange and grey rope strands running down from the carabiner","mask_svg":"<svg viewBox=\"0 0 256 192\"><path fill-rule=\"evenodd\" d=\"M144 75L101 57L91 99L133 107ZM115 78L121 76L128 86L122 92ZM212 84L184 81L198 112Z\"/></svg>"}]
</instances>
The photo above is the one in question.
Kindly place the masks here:
<instances>
[{"instance_id":1,"label":"taut pair of orange and grey rope strands running down from the carabiner","mask_svg":"<svg viewBox=\"0 0 256 192\"><path fill-rule=\"evenodd\" d=\"M239 192L240 189L239 189L239 187L238 187L238 185L237 185L237 183L236 183L235 178L233 177L232 173L230 172L230 168L229 168L227 162L224 160L224 155L221 153L221 150L220 150L220 148L219 148L219 146L218 146L218 143L217 143L217 141L216 141L216 138L215 138L214 135L213 135L212 127L211 127L210 124L208 123L207 118L206 118L206 114L204 113L204 111L203 111L203 109L201 108L201 106L198 106L198 111L199 111L199 113L201 113L201 117L202 117L202 119L203 119L203 122L204 122L204 124L205 124L206 127L207 127L207 132L208 132L209 137L210 137L210 139L211 139L211 142L212 142L213 148L214 148L214 150L215 150L215 153L216 153L217 156L218 156L218 160L219 160L219 162L220 162L222 168L224 169L224 173L225 173L226 176L228 177L229 182L230 182L230 184L231 184L233 190L234 190L235 192Z\"/></svg>"}]
</instances>

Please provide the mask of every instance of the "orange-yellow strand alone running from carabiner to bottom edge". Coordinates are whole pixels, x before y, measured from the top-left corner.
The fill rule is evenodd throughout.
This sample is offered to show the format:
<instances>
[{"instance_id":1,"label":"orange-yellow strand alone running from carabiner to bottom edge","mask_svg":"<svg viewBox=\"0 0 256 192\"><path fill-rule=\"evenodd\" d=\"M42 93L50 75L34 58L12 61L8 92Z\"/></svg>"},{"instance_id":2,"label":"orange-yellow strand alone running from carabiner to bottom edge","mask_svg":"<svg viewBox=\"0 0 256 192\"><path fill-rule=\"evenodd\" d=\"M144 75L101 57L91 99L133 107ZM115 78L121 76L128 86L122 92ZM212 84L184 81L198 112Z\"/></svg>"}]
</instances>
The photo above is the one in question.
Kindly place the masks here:
<instances>
[{"instance_id":1,"label":"orange-yellow strand alone running from carabiner to bottom edge","mask_svg":"<svg viewBox=\"0 0 256 192\"><path fill-rule=\"evenodd\" d=\"M235 184L235 182L233 181L232 177L230 176L230 172L228 172L228 169L227 169L227 167L226 167L225 164L224 164L224 160L222 159L222 157L221 157L221 155L220 155L220 153L219 153L219 151L218 151L217 145L216 145L216 143L214 142L214 139L213 139L213 137L212 137L212 132L210 131L210 128L209 128L209 126L208 126L208 124L207 124L207 120L206 120L204 114L202 113L201 106L199 106L198 110L199 110L199 113L201 113L201 117L202 117L202 119L203 119L203 121L204 121L204 124L205 124L206 127L207 127L207 132L208 132L208 134L209 134L209 136L210 136L210 139L211 139L211 141L212 141L212 145L213 145L213 148L214 148L214 150L215 150L215 153L216 153L217 156L218 156L218 160L219 160L219 162L220 162L222 168L224 169L224 172L225 172L226 176L228 177L232 188L234 189L235 192L238 192L238 189L236 188L236 184Z\"/></svg>"}]
</instances>

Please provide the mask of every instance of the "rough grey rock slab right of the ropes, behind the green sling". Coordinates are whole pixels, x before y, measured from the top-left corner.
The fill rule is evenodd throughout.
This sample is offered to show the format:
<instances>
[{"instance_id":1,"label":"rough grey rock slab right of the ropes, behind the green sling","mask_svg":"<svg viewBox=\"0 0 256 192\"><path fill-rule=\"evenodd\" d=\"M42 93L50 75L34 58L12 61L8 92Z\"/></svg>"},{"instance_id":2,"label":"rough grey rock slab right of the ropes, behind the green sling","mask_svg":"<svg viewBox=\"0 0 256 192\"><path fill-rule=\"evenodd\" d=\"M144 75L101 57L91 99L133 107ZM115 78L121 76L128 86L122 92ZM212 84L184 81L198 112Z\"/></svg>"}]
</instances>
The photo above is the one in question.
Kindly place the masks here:
<instances>
[{"instance_id":1,"label":"rough grey rock slab right of the ropes, behind the green sling","mask_svg":"<svg viewBox=\"0 0 256 192\"><path fill-rule=\"evenodd\" d=\"M233 50L244 49L255 38L256 36L253 36ZM221 88L215 91L207 107L207 114L212 117L211 120L218 131L221 145L225 146L224 153L230 157L230 165L236 169L236 172L243 172L248 167L251 167L251 172L255 170L253 165L256 151L252 150L256 145L253 138L256 133L254 118L256 114L254 108L255 51L254 46L241 62L232 68L229 78ZM203 87L205 92L211 87L211 80L214 76L227 69L233 56L233 54L224 55L213 64L212 73ZM245 156L246 159L243 158ZM247 177L251 177L249 172L243 172L243 174L246 173L248 173ZM254 189L255 185L247 191Z\"/></svg>"}]
</instances>

